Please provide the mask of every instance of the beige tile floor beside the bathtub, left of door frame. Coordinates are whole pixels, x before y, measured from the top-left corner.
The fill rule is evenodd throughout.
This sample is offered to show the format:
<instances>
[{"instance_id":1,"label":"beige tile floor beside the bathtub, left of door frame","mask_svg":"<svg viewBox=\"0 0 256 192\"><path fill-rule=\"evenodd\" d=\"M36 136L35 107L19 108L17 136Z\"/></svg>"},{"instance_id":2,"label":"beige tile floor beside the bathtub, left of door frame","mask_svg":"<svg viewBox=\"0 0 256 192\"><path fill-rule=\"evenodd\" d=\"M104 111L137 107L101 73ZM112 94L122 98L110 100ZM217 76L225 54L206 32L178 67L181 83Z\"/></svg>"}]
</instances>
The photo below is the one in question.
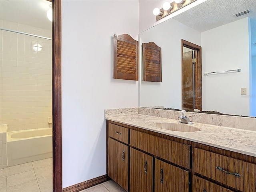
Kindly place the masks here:
<instances>
[{"instance_id":1,"label":"beige tile floor beside the bathtub, left of door frame","mask_svg":"<svg viewBox=\"0 0 256 192\"><path fill-rule=\"evenodd\" d=\"M52 158L0 170L0 192L52 192Z\"/></svg>"}]
</instances>

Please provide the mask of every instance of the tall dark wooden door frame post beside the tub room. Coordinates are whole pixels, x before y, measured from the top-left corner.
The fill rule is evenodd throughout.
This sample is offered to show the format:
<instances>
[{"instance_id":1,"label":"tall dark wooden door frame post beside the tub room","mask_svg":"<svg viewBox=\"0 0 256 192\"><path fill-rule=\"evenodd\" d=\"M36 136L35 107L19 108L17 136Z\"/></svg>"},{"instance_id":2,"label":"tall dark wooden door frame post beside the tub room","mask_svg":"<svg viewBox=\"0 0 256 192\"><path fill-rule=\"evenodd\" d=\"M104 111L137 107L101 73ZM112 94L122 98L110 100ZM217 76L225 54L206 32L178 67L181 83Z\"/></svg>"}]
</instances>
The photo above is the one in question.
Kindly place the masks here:
<instances>
[{"instance_id":1,"label":"tall dark wooden door frame post beside the tub room","mask_svg":"<svg viewBox=\"0 0 256 192\"><path fill-rule=\"evenodd\" d=\"M52 10L52 180L53 192L61 192L61 0L52 0Z\"/></svg>"}]
</instances>

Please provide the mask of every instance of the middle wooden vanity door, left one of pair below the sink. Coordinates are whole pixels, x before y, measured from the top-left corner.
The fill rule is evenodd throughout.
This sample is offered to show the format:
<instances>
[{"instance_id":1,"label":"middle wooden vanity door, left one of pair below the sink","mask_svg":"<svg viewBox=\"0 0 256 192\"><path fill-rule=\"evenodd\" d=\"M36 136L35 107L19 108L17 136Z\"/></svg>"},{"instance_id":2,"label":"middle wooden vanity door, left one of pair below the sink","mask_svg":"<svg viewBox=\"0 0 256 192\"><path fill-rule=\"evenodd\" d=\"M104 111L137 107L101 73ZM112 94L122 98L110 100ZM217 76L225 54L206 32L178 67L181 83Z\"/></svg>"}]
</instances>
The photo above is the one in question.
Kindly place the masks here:
<instances>
[{"instance_id":1,"label":"middle wooden vanity door, left one of pair below the sink","mask_svg":"<svg viewBox=\"0 0 256 192\"><path fill-rule=\"evenodd\" d=\"M153 157L130 148L130 192L153 191Z\"/></svg>"}]
</instances>

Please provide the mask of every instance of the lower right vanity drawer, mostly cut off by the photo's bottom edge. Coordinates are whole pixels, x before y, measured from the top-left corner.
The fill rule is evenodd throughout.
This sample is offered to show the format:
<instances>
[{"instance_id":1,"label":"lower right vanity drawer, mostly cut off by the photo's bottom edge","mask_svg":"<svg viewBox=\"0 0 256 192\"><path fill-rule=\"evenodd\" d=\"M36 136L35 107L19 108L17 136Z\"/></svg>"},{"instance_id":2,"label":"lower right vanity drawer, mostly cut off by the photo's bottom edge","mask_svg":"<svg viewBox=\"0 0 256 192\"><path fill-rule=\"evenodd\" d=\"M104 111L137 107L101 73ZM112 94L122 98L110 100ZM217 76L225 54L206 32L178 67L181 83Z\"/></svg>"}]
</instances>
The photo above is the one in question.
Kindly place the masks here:
<instances>
[{"instance_id":1,"label":"lower right vanity drawer, mostly cut off by the photo's bottom edge","mask_svg":"<svg viewBox=\"0 0 256 192\"><path fill-rule=\"evenodd\" d=\"M210 181L193 176L193 192L233 192Z\"/></svg>"}]
</instances>

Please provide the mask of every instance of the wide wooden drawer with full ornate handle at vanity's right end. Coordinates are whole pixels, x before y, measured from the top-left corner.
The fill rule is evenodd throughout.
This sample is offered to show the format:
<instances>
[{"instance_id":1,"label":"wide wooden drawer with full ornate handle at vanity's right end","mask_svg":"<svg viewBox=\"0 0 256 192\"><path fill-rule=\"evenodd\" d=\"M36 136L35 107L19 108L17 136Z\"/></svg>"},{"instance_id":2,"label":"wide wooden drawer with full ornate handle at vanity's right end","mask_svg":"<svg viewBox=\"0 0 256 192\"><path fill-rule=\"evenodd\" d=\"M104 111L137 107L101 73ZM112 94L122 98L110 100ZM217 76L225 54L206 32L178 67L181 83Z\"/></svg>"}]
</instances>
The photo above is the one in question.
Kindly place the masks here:
<instances>
[{"instance_id":1,"label":"wide wooden drawer with full ornate handle at vanity's right end","mask_svg":"<svg viewBox=\"0 0 256 192\"><path fill-rule=\"evenodd\" d=\"M255 192L255 164L194 148L193 166L194 172L222 184L242 192Z\"/></svg>"}]
</instances>

